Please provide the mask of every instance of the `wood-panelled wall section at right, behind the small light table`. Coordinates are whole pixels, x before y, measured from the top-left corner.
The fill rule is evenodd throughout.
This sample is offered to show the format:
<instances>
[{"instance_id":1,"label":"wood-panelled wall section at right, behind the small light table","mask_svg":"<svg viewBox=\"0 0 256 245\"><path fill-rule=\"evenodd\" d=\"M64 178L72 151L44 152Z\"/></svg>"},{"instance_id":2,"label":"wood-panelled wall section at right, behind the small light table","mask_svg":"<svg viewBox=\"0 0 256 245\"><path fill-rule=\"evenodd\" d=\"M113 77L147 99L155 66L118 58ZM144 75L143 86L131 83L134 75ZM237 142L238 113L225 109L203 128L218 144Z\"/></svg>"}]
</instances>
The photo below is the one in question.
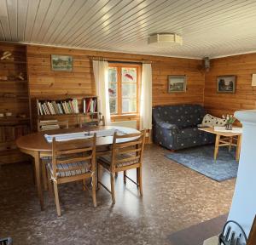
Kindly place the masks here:
<instances>
[{"instance_id":1,"label":"wood-panelled wall section at right, behind the small light table","mask_svg":"<svg viewBox=\"0 0 256 245\"><path fill-rule=\"evenodd\" d=\"M211 60L205 78L204 105L212 115L220 117L234 111L256 109L256 87L252 74L256 73L256 54L241 54ZM217 77L236 75L236 93L218 94Z\"/></svg>"}]
</instances>

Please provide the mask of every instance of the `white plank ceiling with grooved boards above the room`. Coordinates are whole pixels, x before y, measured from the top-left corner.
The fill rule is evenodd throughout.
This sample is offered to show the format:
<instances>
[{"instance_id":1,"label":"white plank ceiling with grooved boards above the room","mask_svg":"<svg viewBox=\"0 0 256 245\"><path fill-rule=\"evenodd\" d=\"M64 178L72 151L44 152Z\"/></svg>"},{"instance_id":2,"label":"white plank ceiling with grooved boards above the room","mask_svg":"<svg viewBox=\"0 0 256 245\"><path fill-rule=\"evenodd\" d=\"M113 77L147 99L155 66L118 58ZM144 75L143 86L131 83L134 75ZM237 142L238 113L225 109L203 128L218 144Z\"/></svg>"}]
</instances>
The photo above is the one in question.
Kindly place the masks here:
<instances>
[{"instance_id":1,"label":"white plank ceiling with grooved boards above the room","mask_svg":"<svg viewBox=\"0 0 256 245\"><path fill-rule=\"evenodd\" d=\"M255 0L0 0L0 9L2 41L190 58L256 51ZM156 32L183 46L151 47Z\"/></svg>"}]
</instances>

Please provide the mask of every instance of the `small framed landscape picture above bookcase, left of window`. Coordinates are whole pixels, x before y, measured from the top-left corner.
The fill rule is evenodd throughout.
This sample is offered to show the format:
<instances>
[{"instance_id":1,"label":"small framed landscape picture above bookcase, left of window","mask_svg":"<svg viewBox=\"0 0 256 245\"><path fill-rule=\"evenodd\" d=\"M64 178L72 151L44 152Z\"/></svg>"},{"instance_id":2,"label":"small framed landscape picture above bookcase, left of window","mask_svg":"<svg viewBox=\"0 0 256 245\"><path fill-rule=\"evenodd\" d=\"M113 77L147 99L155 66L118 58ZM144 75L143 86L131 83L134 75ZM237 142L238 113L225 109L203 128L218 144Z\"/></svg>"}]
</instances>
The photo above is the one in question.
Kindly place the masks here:
<instances>
[{"instance_id":1,"label":"small framed landscape picture above bookcase, left of window","mask_svg":"<svg viewBox=\"0 0 256 245\"><path fill-rule=\"evenodd\" d=\"M51 54L51 69L52 71L73 71L73 57Z\"/></svg>"}]
</instances>

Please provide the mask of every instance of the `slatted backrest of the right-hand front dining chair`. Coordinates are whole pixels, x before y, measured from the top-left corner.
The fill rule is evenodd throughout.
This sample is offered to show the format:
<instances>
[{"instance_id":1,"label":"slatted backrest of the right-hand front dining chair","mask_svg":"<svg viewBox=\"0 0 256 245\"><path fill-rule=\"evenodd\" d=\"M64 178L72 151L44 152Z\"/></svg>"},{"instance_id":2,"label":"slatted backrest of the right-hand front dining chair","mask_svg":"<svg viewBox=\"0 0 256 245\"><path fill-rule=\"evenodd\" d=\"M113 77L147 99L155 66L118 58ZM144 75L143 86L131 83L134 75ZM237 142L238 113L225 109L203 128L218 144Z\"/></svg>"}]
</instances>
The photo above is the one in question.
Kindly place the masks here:
<instances>
[{"instance_id":1,"label":"slatted backrest of the right-hand front dining chair","mask_svg":"<svg viewBox=\"0 0 256 245\"><path fill-rule=\"evenodd\" d=\"M126 162L142 163L145 135L144 130L136 134L114 133L111 168L115 168L118 164L125 165Z\"/></svg>"}]
</instances>

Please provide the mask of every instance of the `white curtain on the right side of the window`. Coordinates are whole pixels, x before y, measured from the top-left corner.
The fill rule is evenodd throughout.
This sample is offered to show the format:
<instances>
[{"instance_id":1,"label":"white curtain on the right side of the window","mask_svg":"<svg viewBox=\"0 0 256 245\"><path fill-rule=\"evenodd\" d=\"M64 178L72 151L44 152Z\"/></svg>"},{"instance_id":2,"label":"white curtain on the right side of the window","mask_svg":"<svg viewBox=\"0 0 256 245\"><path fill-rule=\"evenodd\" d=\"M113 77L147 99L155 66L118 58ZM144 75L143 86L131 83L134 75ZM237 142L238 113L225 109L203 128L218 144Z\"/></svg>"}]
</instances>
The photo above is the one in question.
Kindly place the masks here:
<instances>
[{"instance_id":1,"label":"white curtain on the right side of the window","mask_svg":"<svg viewBox=\"0 0 256 245\"><path fill-rule=\"evenodd\" d=\"M152 129L152 68L143 64L140 100L140 130Z\"/></svg>"}]
</instances>

